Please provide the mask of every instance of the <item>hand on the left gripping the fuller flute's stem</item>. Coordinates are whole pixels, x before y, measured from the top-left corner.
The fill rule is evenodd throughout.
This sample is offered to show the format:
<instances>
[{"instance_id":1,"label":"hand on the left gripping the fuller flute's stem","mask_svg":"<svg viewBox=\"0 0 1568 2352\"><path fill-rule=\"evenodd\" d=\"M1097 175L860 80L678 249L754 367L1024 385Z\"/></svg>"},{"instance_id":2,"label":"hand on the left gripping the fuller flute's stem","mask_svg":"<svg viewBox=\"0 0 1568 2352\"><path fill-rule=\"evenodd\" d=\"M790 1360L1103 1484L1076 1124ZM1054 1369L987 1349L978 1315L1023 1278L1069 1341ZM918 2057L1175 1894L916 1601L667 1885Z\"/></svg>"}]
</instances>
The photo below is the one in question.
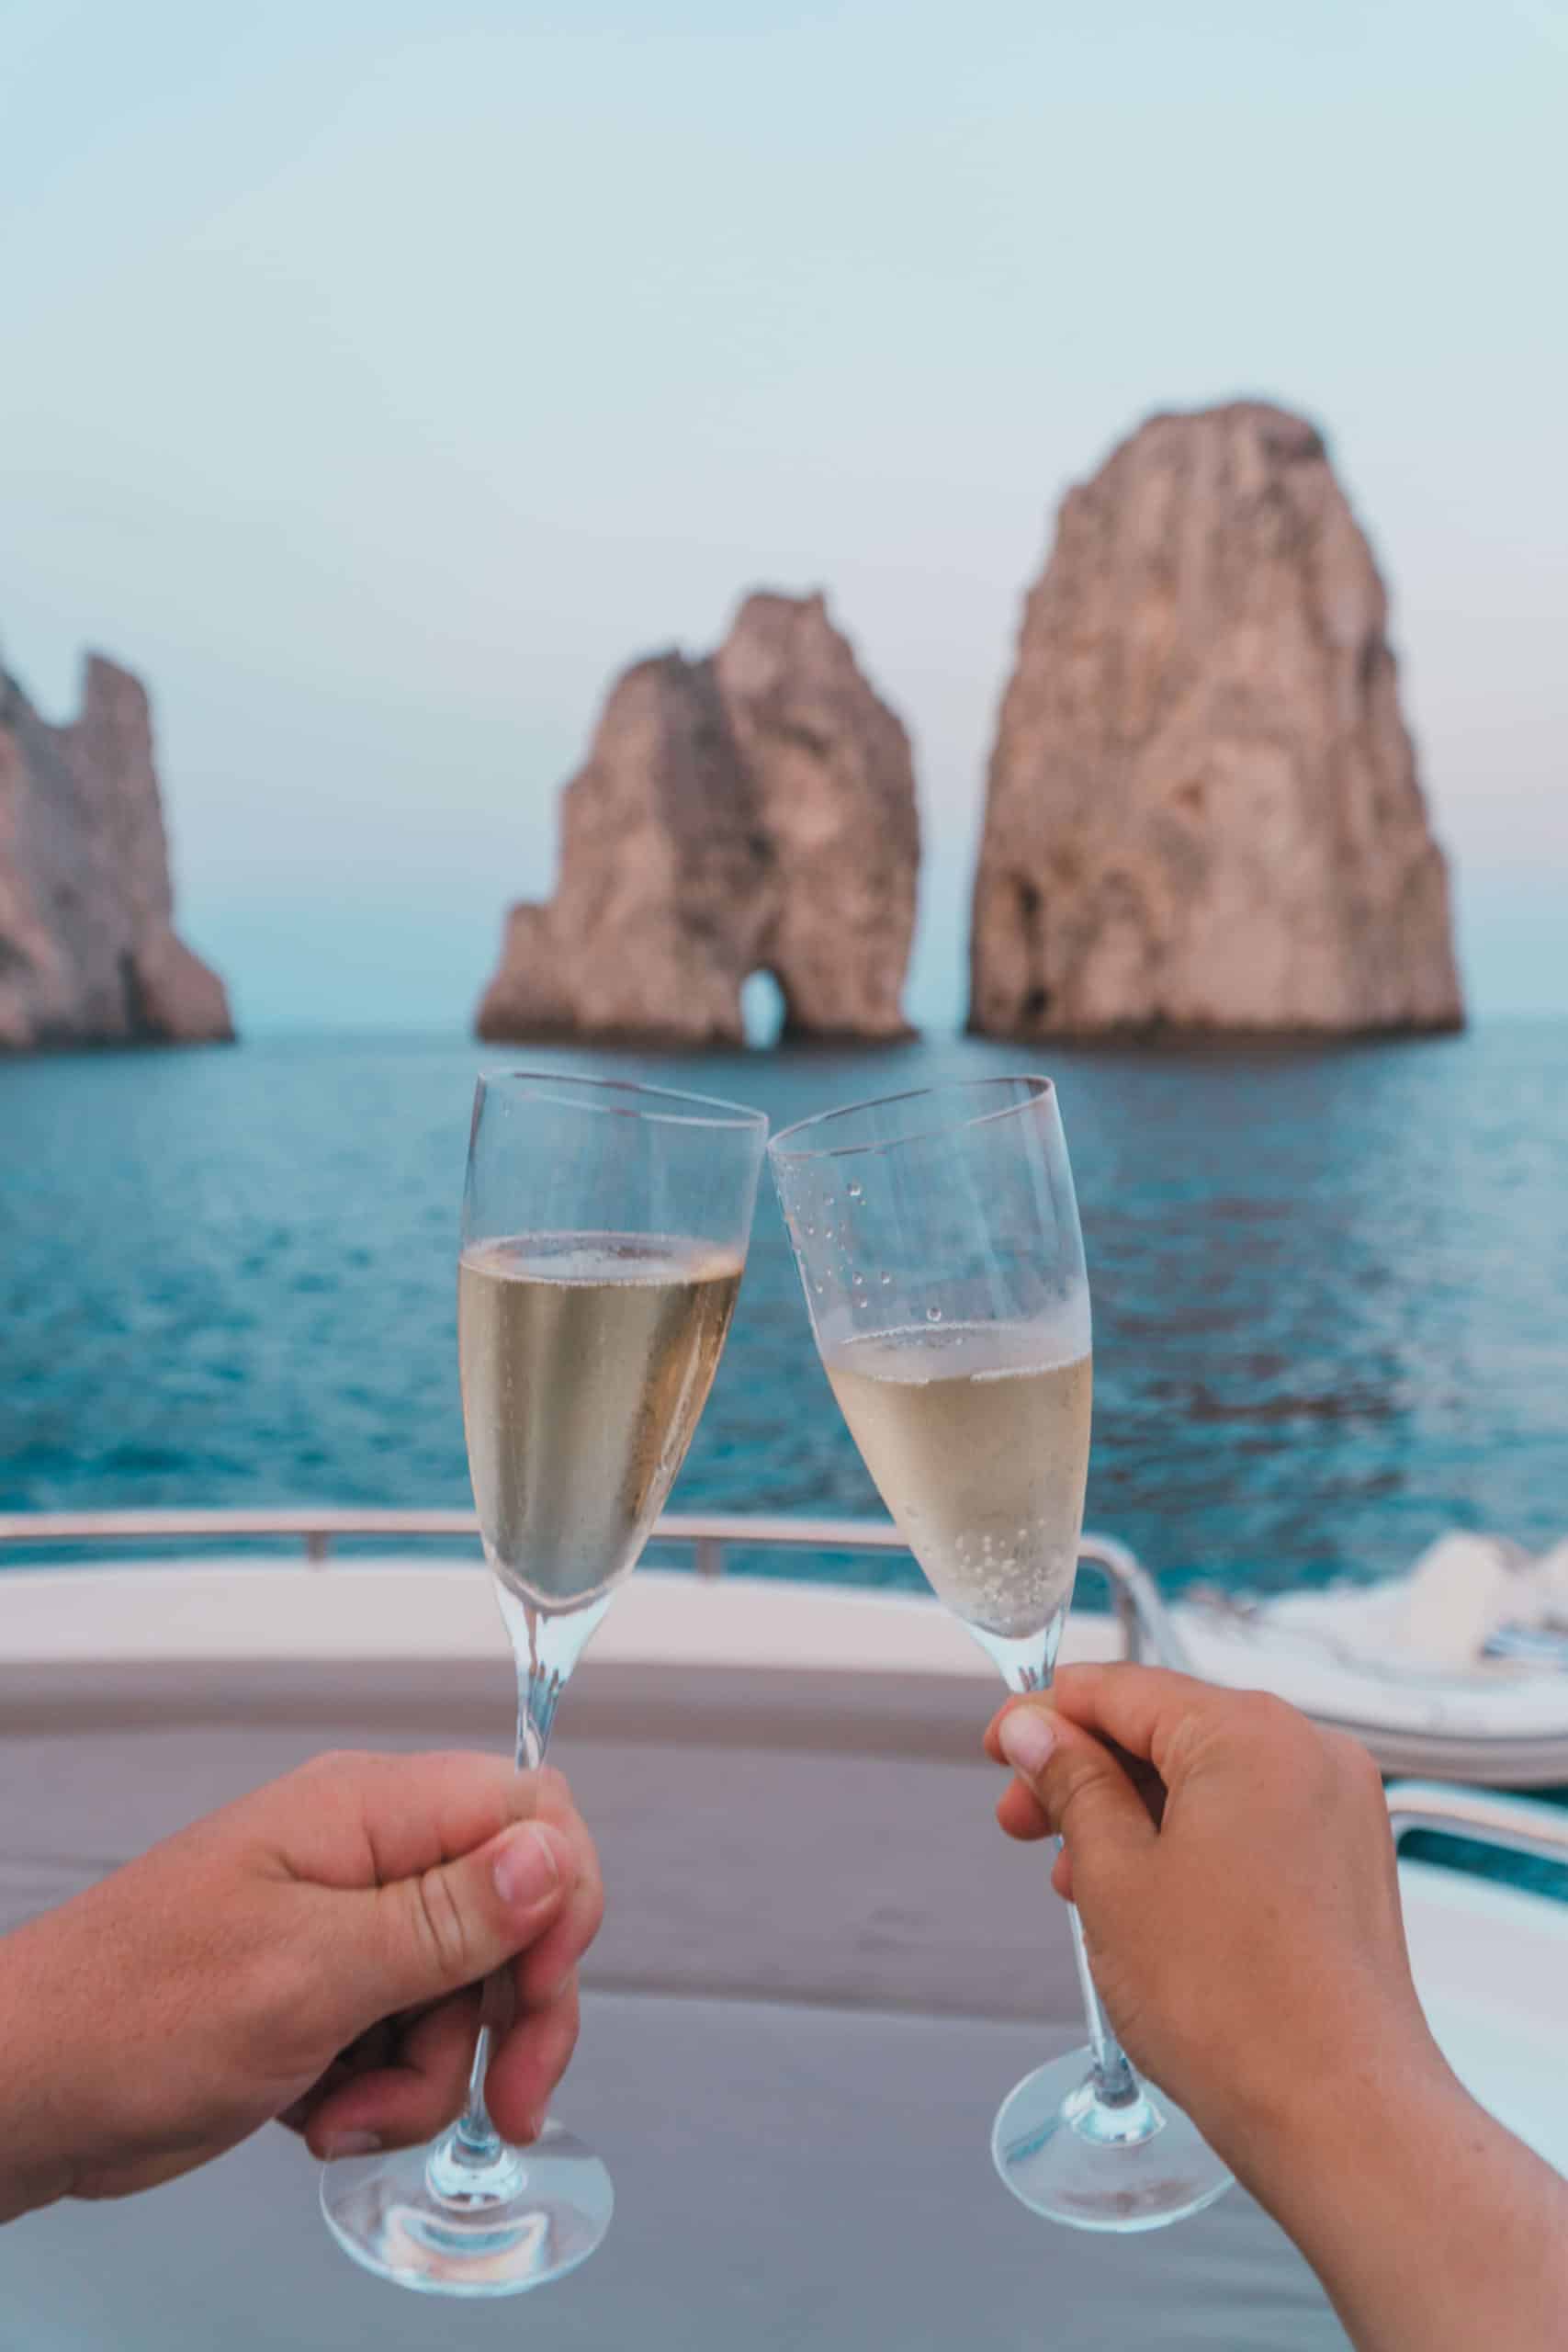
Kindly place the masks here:
<instances>
[{"instance_id":1,"label":"hand on the left gripping the fuller flute's stem","mask_svg":"<svg viewBox=\"0 0 1568 2352\"><path fill-rule=\"evenodd\" d=\"M430 2138L508 1964L487 2098L536 2138L602 1907L555 1771L331 1755L242 1797L0 1940L0 2220L153 2187L270 2117L320 2157Z\"/></svg>"}]
</instances>

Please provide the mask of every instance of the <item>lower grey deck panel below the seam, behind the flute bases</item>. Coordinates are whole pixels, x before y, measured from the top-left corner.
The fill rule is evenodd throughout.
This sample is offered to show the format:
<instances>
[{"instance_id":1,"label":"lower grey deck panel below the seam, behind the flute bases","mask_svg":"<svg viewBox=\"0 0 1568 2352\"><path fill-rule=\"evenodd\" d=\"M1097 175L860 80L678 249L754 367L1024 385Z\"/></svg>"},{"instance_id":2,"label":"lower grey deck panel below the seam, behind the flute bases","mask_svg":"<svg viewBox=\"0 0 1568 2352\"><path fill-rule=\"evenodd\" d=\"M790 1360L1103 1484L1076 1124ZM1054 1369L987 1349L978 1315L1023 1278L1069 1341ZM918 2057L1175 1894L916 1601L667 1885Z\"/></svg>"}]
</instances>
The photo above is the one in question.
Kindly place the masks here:
<instances>
[{"instance_id":1,"label":"lower grey deck panel below the seam, behind the flute bases","mask_svg":"<svg viewBox=\"0 0 1568 2352\"><path fill-rule=\"evenodd\" d=\"M1345 2338L1234 2190L1140 2239L1056 2230L990 2166L990 2114L1065 2032L599 1994L557 2107L616 2176L599 2253L517 2303L367 2279L268 2133L125 2206L0 2237L5 2352L1328 2352Z\"/></svg>"}]
</instances>

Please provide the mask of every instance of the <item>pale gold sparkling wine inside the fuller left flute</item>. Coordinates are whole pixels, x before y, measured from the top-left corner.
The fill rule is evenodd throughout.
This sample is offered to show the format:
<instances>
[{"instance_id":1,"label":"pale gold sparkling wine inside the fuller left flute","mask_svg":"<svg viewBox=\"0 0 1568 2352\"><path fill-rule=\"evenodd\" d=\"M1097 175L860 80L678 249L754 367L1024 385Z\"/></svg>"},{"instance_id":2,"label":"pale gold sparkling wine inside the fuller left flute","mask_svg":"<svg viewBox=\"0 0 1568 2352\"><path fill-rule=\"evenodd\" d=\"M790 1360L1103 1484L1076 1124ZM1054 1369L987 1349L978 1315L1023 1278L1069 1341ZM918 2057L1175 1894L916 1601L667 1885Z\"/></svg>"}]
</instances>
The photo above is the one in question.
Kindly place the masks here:
<instances>
[{"instance_id":1,"label":"pale gold sparkling wine inside the fuller left flute","mask_svg":"<svg viewBox=\"0 0 1568 2352\"><path fill-rule=\"evenodd\" d=\"M578 1609L637 1562L741 1289L733 1251L670 1235L524 1232L458 1261L458 1364L491 1566Z\"/></svg>"}]
</instances>

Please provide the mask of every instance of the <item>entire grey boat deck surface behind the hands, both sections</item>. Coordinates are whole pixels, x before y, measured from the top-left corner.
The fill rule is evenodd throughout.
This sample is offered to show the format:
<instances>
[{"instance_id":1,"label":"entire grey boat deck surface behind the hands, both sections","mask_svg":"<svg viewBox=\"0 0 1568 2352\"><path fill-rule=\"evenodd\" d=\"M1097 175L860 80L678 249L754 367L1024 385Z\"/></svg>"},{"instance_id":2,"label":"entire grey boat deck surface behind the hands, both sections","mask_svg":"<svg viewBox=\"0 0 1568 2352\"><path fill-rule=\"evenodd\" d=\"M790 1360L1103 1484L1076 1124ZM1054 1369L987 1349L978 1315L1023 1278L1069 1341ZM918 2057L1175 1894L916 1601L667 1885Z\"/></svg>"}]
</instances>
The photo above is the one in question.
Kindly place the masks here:
<instances>
[{"instance_id":1,"label":"entire grey boat deck surface behind the hands, both sections","mask_svg":"<svg viewBox=\"0 0 1568 2352\"><path fill-rule=\"evenodd\" d=\"M1093 2239L994 2178L1001 2093L1077 2030L1063 1912L1044 1856L990 1825L990 1766L853 1722L804 1740L766 1710L691 1738L658 1722L658 1693L607 1705L602 1686L576 1738L569 1703L557 1752L611 1891L557 2100L616 2176L592 2263L491 2307L378 2286L270 2131L153 2197L0 2232L0 2352L1345 2345L1241 2192ZM249 1710L202 1691L153 1715L101 1691L7 1705L0 1926L324 1745L503 1743L501 1679L449 1710L353 1677Z\"/></svg>"}]
</instances>

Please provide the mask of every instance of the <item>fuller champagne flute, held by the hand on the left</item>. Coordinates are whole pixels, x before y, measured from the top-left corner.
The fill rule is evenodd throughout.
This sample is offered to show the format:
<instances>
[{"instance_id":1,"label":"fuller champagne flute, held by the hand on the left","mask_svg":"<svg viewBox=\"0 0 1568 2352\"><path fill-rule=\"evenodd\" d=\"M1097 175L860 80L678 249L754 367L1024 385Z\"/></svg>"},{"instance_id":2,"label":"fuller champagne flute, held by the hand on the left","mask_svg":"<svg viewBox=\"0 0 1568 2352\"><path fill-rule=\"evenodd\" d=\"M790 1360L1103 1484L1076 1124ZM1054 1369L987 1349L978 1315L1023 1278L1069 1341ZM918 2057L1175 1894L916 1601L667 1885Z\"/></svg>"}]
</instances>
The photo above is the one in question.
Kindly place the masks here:
<instances>
[{"instance_id":1,"label":"fuller champagne flute, held by the hand on the left","mask_svg":"<svg viewBox=\"0 0 1568 2352\"><path fill-rule=\"evenodd\" d=\"M510 1070L475 1091L458 1258L463 1428L484 1557L517 1663L517 1771L611 1592L637 1564L712 1385L741 1287L766 1120L621 1080ZM367 2270L440 2296L512 2296L609 2227L604 2164L559 2124L508 2147L484 2107L433 2147L322 2173Z\"/></svg>"}]
</instances>

